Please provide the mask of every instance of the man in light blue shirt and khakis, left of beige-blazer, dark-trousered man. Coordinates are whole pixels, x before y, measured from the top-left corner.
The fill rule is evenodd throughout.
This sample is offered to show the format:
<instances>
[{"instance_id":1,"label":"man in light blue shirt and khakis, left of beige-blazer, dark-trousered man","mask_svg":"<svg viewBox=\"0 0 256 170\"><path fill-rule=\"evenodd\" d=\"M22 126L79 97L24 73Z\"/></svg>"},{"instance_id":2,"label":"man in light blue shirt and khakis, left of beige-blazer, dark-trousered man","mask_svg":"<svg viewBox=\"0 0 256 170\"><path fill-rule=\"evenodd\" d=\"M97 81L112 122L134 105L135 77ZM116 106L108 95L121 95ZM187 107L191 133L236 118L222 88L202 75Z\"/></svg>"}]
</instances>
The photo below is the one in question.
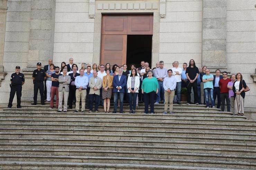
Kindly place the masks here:
<instances>
[{"instance_id":1,"label":"man in light blue shirt and khakis, left of beige-blazer, dark-trousered man","mask_svg":"<svg viewBox=\"0 0 256 170\"><path fill-rule=\"evenodd\" d=\"M84 76L84 70L80 69L80 76L77 76L75 78L75 86L76 86L76 91L75 91L75 111L79 111L79 106L80 106L80 99L82 101L82 108L81 111L82 113L85 113L85 98L86 98L86 90L87 90L87 85L88 85L88 77Z\"/></svg>"}]
</instances>

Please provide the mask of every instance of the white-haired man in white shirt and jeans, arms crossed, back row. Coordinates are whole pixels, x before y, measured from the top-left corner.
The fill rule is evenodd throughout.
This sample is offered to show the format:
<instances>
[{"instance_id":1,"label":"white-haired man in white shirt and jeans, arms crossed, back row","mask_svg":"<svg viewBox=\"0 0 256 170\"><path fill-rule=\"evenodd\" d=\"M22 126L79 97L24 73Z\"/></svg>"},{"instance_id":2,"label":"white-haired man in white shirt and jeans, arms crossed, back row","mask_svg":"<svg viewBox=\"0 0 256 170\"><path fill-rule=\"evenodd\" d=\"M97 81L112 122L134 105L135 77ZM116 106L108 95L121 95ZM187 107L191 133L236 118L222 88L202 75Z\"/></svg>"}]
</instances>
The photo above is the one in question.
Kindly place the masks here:
<instances>
[{"instance_id":1,"label":"white-haired man in white shirt and jeans, arms crossed, back row","mask_svg":"<svg viewBox=\"0 0 256 170\"><path fill-rule=\"evenodd\" d=\"M172 68L172 75L176 78L176 93L177 93L177 104L181 104L181 73L182 68L179 67L179 62L174 61L174 67Z\"/></svg>"}]
</instances>

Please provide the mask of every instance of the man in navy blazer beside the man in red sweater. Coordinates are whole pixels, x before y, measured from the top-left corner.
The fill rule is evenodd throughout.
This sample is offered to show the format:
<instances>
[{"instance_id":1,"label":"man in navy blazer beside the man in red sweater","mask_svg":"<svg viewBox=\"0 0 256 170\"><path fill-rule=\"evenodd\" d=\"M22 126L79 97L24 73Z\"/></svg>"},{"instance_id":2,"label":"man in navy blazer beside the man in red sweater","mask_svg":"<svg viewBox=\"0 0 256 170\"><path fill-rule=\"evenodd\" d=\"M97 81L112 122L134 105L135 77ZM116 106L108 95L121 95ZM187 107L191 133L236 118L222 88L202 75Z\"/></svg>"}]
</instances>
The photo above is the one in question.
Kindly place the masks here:
<instances>
[{"instance_id":1,"label":"man in navy blazer beside the man in red sweater","mask_svg":"<svg viewBox=\"0 0 256 170\"><path fill-rule=\"evenodd\" d=\"M220 79L223 78L223 76L220 75L220 70L217 69L215 71L215 74L213 76L213 99L214 99L214 103L215 103L215 100L216 100L216 97L217 97L217 108L219 109L220 108L220 104L221 104L221 100L220 100L220 87L219 87L219 81Z\"/></svg>"}]
</instances>

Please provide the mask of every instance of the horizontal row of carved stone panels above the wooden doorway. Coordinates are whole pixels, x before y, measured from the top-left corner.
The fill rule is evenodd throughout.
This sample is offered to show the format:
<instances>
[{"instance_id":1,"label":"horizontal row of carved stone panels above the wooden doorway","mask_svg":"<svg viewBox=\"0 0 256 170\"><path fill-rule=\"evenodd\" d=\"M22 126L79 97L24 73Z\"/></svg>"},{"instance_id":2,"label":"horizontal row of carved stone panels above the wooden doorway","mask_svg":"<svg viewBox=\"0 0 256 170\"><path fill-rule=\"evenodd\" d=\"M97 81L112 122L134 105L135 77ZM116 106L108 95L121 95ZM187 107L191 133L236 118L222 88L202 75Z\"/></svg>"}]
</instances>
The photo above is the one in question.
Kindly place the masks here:
<instances>
[{"instance_id":1,"label":"horizontal row of carved stone panels above the wooden doorway","mask_svg":"<svg viewBox=\"0 0 256 170\"><path fill-rule=\"evenodd\" d=\"M134 3L122 3L122 2L111 2L111 3L98 3L98 10L137 10L137 9L158 9L157 2L134 2Z\"/></svg>"}]
</instances>

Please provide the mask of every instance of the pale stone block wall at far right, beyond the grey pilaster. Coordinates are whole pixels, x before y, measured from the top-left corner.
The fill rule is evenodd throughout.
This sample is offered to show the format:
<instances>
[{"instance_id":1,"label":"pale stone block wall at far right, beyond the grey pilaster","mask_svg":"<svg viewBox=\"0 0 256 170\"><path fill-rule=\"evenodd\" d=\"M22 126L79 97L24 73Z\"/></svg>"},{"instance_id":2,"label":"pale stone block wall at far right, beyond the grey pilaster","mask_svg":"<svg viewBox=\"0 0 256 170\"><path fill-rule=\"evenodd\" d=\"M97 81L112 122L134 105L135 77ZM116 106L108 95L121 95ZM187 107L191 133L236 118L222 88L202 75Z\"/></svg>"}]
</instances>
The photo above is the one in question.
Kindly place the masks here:
<instances>
[{"instance_id":1,"label":"pale stone block wall at far right, beyond the grey pilaster","mask_svg":"<svg viewBox=\"0 0 256 170\"><path fill-rule=\"evenodd\" d=\"M246 92L247 111L256 112L256 84L250 77L256 68L255 0L227 0L227 67L242 73L250 87Z\"/></svg>"}]
</instances>

